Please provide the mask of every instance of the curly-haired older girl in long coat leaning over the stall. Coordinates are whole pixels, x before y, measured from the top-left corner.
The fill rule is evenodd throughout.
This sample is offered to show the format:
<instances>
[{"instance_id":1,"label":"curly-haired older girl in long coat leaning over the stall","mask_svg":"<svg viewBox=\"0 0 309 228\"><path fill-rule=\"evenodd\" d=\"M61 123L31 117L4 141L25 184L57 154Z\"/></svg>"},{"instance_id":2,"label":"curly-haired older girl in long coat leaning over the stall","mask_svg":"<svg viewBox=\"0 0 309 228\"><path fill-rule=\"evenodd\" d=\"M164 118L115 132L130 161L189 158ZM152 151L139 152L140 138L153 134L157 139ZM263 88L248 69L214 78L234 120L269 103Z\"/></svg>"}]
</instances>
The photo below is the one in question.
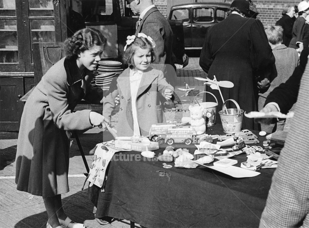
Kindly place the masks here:
<instances>
[{"instance_id":1,"label":"curly-haired older girl in long coat leaning over the stall","mask_svg":"<svg viewBox=\"0 0 309 228\"><path fill-rule=\"evenodd\" d=\"M83 227L66 216L61 194L69 192L69 131L105 127L99 113L73 112L81 99L102 103L102 89L90 82L105 43L96 29L77 31L64 43L66 57L47 71L24 106L15 182L17 190L43 196L49 217L46 227Z\"/></svg>"}]
</instances>

